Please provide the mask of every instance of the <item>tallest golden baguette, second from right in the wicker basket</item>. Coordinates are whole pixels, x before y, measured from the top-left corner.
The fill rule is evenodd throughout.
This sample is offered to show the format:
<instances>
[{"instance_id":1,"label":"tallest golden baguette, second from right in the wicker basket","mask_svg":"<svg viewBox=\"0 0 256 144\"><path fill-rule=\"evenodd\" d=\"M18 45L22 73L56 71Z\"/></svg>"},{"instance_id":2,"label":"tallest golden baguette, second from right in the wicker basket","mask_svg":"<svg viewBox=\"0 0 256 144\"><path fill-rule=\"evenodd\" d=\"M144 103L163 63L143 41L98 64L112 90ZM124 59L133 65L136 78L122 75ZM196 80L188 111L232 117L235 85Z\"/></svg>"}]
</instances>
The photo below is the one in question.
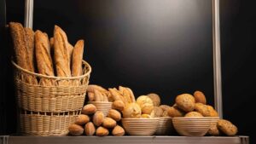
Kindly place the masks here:
<instances>
[{"instance_id":1,"label":"tallest golden baguette, second from right in the wicker basket","mask_svg":"<svg viewBox=\"0 0 256 144\"><path fill-rule=\"evenodd\" d=\"M71 77L70 58L66 33L61 27L55 26L54 31L55 66L58 77ZM61 86L68 86L67 80L59 82Z\"/></svg>"}]
</instances>

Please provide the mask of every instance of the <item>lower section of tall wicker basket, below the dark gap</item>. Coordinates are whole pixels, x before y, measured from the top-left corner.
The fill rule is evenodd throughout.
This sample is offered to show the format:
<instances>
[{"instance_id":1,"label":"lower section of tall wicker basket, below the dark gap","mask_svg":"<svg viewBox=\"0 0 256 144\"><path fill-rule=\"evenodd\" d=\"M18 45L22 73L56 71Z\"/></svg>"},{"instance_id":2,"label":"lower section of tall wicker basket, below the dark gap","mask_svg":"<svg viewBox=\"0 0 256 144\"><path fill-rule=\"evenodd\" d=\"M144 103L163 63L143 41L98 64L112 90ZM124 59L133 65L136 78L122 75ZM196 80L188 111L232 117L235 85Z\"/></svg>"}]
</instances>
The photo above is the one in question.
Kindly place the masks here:
<instances>
[{"instance_id":1,"label":"lower section of tall wicker basket, below the dark gap","mask_svg":"<svg viewBox=\"0 0 256 144\"><path fill-rule=\"evenodd\" d=\"M20 132L23 135L67 135L81 111L73 112L20 112Z\"/></svg>"}]
</instances>

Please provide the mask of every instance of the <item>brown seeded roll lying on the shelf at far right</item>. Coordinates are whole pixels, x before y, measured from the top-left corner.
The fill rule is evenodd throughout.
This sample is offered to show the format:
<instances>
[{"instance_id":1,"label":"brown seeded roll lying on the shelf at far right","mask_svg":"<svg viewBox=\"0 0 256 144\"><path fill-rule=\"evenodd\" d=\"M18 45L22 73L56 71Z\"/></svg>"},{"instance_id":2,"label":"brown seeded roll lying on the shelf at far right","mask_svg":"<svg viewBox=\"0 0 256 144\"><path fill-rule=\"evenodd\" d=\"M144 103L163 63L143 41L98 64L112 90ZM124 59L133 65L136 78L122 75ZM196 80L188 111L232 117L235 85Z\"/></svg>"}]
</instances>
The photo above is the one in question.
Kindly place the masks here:
<instances>
[{"instance_id":1,"label":"brown seeded roll lying on the shelf at far right","mask_svg":"<svg viewBox=\"0 0 256 144\"><path fill-rule=\"evenodd\" d=\"M225 119L220 119L217 123L218 130L228 136L234 136L237 133L236 125Z\"/></svg>"}]
</instances>

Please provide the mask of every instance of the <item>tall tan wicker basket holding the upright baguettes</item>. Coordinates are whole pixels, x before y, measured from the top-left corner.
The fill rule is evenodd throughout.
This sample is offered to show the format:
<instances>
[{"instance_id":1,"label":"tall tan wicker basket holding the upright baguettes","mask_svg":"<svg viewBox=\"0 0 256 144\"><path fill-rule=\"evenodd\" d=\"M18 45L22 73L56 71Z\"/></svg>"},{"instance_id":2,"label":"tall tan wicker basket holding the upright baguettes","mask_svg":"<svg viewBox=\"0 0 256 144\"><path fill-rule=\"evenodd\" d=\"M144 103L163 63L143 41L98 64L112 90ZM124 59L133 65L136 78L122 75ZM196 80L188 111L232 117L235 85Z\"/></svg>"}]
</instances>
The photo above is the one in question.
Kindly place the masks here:
<instances>
[{"instance_id":1,"label":"tall tan wicker basket holding the upright baguettes","mask_svg":"<svg viewBox=\"0 0 256 144\"><path fill-rule=\"evenodd\" d=\"M74 123L84 106L91 67L83 61L83 75L60 78L29 72L12 61L15 67L17 101L20 107L20 131L25 135L67 135L68 125ZM38 84L26 83L36 78ZM52 86L40 84L42 79ZM65 86L60 82L65 81Z\"/></svg>"}]
</instances>

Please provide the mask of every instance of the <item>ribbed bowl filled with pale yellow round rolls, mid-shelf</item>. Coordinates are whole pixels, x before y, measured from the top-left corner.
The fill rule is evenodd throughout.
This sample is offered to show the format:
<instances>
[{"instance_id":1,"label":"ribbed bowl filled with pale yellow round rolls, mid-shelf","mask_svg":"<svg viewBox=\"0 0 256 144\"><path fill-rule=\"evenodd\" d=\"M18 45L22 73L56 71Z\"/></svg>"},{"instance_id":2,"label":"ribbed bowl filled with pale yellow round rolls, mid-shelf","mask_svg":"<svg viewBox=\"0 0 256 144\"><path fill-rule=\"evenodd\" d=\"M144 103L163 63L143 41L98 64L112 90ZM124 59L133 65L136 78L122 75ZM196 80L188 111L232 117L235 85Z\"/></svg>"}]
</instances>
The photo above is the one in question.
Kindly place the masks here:
<instances>
[{"instance_id":1,"label":"ribbed bowl filled with pale yellow round rolls, mid-shelf","mask_svg":"<svg viewBox=\"0 0 256 144\"><path fill-rule=\"evenodd\" d=\"M128 135L154 135L159 124L155 118L154 103L147 95L125 105L122 125Z\"/></svg>"}]
</instances>

